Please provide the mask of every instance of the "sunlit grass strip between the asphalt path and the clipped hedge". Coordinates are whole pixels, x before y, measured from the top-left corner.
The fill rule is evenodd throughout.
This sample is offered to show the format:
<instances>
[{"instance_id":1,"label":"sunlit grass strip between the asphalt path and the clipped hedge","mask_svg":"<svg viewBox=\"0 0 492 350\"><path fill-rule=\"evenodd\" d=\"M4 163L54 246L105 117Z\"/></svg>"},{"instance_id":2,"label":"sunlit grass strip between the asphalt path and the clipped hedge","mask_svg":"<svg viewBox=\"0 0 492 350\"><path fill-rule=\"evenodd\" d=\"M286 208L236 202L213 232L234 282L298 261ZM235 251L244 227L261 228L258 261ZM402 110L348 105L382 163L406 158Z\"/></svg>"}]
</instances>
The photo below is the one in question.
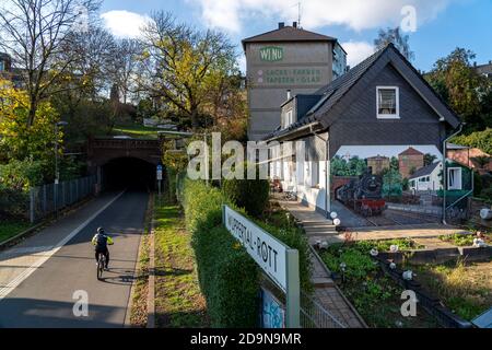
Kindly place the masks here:
<instances>
[{"instance_id":1,"label":"sunlit grass strip between the asphalt path and the clipped hedge","mask_svg":"<svg viewBox=\"0 0 492 350\"><path fill-rule=\"evenodd\" d=\"M208 327L184 213L168 201L156 199L154 206L156 327Z\"/></svg>"}]
</instances>

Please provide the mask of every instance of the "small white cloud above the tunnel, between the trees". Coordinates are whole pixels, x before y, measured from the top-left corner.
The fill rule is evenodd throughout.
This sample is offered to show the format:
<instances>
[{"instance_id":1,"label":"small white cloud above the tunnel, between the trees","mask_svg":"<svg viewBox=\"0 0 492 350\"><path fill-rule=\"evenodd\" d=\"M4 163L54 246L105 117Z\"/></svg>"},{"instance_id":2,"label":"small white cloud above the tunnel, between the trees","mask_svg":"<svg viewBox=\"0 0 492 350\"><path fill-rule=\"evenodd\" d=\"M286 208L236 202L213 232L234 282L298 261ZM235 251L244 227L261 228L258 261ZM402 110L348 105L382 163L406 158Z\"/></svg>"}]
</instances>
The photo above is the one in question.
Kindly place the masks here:
<instances>
[{"instance_id":1,"label":"small white cloud above the tunnel, between the trees","mask_svg":"<svg viewBox=\"0 0 492 350\"><path fill-rule=\"evenodd\" d=\"M115 36L120 38L134 38L140 35L140 28L151 19L126 10L114 10L101 14L104 25Z\"/></svg>"}]
</instances>

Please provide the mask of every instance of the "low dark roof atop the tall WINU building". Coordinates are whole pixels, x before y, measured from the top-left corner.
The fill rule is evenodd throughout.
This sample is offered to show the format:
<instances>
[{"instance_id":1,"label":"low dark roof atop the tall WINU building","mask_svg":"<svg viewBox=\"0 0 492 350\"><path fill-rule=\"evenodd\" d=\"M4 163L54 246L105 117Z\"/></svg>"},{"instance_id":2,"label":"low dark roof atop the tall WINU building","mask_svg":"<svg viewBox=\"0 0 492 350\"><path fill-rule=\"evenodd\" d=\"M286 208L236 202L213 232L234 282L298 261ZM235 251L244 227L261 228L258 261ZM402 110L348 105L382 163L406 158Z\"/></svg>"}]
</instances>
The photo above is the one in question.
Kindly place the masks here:
<instances>
[{"instance_id":1,"label":"low dark roof atop the tall WINU building","mask_svg":"<svg viewBox=\"0 0 492 350\"><path fill-rule=\"evenodd\" d=\"M284 26L271 32L243 39L243 47L249 43L282 43L282 42L337 42L335 37L313 33L303 28Z\"/></svg>"}]
</instances>

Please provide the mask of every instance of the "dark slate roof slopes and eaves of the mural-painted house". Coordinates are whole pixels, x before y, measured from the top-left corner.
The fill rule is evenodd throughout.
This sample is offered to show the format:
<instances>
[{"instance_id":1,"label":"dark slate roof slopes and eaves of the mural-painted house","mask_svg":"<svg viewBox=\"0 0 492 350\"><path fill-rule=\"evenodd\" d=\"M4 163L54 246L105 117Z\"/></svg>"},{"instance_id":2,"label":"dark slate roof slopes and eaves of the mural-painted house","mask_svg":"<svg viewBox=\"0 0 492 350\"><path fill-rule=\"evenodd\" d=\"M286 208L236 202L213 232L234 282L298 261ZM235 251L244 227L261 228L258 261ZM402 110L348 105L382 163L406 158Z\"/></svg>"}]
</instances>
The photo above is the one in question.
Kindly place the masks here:
<instances>
[{"instance_id":1,"label":"dark slate roof slopes and eaves of the mural-painted house","mask_svg":"<svg viewBox=\"0 0 492 350\"><path fill-rule=\"evenodd\" d=\"M396 56L395 56L396 55ZM457 115L447 106L447 104L435 93L435 91L429 85L429 83L422 78L422 75L417 71L417 69L400 54L400 51L393 44L388 44L385 48L376 51L375 54L367 57L358 66L353 67L347 73L333 80L328 85L319 89L314 94L323 95L319 102L306 113L306 115L292 124L290 127L282 129L280 131L276 131L267 136L267 140L271 138L282 137L288 135L305 125L313 124L315 121L320 121L324 114L326 114L331 107L333 107L340 98L342 98L353 85L355 85L359 80L361 80L364 74L371 70L371 68L383 57L388 57L388 60L394 63L406 65L403 68L410 68L410 73L413 73L418 77L417 80L423 83L423 89L427 89L426 93L427 97L431 97L435 104L441 104L438 107L442 113L446 114L446 120L453 126L457 127L459 125L459 118ZM398 60L399 58L399 60ZM429 96L429 91L432 96ZM323 110L320 110L323 109Z\"/></svg>"}]
</instances>

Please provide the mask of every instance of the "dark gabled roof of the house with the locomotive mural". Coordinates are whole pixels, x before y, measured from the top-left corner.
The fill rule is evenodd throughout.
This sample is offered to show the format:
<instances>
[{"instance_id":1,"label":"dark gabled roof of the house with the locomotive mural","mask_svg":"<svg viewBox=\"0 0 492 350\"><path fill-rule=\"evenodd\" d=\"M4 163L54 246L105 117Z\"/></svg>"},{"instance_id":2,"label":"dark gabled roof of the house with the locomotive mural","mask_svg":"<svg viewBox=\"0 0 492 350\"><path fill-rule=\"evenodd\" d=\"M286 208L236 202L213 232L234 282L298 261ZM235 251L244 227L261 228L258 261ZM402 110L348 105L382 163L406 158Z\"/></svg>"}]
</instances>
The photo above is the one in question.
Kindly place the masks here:
<instances>
[{"instance_id":1,"label":"dark gabled roof of the house with the locomotive mural","mask_svg":"<svg viewBox=\"0 0 492 350\"><path fill-rule=\"evenodd\" d=\"M413 86L420 96L426 101L443 120L447 121L453 128L458 127L458 116L436 94L417 69L400 54L395 45L389 44L363 60L347 73L315 92L315 94L323 94L323 97L302 119L292 124L288 129L269 135L267 139L285 136L297 128L314 122L321 124L323 128L329 127L329 125L331 125L339 116L331 116L331 119L324 118L327 113L368 72L383 69L387 63L391 63L398 70L403 79Z\"/></svg>"}]
</instances>

